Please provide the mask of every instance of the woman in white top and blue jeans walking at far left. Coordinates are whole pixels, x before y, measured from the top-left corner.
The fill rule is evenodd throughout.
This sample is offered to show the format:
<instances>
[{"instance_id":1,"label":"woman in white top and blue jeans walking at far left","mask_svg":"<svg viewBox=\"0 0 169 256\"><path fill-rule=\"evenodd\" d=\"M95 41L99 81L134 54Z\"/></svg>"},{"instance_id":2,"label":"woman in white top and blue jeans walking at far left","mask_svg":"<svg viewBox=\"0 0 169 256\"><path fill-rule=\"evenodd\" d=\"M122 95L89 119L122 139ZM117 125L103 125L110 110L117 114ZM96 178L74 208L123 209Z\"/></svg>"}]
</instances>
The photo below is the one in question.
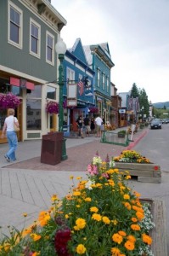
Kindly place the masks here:
<instances>
[{"instance_id":1,"label":"woman in white top and blue jeans walking at far left","mask_svg":"<svg viewBox=\"0 0 169 256\"><path fill-rule=\"evenodd\" d=\"M8 152L4 155L8 162L16 160L15 150L18 146L18 137L16 131L14 131L14 124L19 127L18 119L14 117L14 109L8 109L8 117L6 117L3 125L2 138L5 137L5 133L8 139Z\"/></svg>"}]
</instances>

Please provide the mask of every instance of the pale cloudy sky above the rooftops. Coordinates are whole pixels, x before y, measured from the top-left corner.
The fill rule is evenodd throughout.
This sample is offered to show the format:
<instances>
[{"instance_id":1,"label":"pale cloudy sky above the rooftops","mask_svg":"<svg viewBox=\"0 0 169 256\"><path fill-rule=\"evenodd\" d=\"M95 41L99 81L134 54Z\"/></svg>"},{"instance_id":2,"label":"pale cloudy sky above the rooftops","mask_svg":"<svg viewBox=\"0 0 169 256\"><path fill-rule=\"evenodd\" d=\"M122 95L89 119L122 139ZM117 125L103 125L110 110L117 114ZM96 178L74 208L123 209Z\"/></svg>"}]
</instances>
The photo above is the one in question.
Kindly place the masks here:
<instances>
[{"instance_id":1,"label":"pale cloudy sky above the rooftops","mask_svg":"<svg viewBox=\"0 0 169 256\"><path fill-rule=\"evenodd\" d=\"M71 48L108 43L117 93L135 83L152 103L169 102L169 0L51 0L67 20L61 38Z\"/></svg>"}]
</instances>

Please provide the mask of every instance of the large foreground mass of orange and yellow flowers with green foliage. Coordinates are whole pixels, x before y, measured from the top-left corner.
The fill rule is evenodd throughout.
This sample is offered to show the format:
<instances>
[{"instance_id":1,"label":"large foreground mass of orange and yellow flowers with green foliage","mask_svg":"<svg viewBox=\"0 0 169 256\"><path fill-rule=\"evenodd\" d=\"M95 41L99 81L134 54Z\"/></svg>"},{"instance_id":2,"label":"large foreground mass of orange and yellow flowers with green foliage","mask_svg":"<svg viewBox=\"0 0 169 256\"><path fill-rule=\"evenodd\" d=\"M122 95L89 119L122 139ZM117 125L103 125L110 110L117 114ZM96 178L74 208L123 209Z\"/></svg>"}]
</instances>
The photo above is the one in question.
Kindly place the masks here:
<instances>
[{"instance_id":1,"label":"large foreground mass of orange and yellow flowers with green foliage","mask_svg":"<svg viewBox=\"0 0 169 256\"><path fill-rule=\"evenodd\" d=\"M0 254L153 255L149 203L128 187L129 178L113 160L102 161L97 154L87 166L87 180L77 177L78 184L61 201L54 195L52 207L31 227L11 230L11 237L0 242Z\"/></svg>"}]
</instances>

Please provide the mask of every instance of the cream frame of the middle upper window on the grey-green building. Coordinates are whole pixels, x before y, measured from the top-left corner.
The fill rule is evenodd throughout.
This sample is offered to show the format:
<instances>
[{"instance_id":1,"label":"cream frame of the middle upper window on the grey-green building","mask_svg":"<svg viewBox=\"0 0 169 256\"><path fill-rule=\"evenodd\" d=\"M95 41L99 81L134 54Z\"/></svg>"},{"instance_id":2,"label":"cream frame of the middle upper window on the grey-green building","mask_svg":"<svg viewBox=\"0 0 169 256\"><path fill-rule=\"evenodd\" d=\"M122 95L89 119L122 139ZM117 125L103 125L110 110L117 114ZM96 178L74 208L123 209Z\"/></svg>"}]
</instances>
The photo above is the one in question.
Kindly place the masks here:
<instances>
[{"instance_id":1,"label":"cream frame of the middle upper window on the grey-green building","mask_svg":"<svg viewBox=\"0 0 169 256\"><path fill-rule=\"evenodd\" d=\"M37 38L37 53L31 50L31 25L37 26L38 28L38 38ZM36 20L33 20L30 18L30 54L34 55L35 57L39 58L41 57L41 26L37 23Z\"/></svg>"}]
</instances>

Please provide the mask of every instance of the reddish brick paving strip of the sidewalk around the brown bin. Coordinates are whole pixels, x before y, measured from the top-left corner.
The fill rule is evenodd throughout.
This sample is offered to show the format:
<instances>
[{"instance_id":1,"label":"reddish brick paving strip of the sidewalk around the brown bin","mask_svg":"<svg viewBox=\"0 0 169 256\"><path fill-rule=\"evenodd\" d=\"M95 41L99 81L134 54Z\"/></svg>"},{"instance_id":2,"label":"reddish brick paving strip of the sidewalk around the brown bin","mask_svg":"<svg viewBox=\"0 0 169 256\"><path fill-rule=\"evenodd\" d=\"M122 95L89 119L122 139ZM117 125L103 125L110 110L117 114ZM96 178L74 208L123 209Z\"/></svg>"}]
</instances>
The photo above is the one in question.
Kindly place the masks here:
<instances>
[{"instance_id":1,"label":"reddish brick paving strip of the sidewalk around the brown bin","mask_svg":"<svg viewBox=\"0 0 169 256\"><path fill-rule=\"evenodd\" d=\"M30 169L30 170L44 170L44 171L70 171L70 172L83 172L86 171L87 165L90 164L93 156L98 151L99 156L102 160L105 160L106 156L109 155L117 156L121 154L124 149L131 149L134 147L139 140L144 137L148 132L147 129L138 131L132 137L133 142L128 147L100 143L99 141L93 141L92 143L85 143L76 147L67 148L66 152L68 159L61 161L59 164L52 166L41 163L40 157L36 157L30 160L25 160L19 163L12 164L8 168L14 169Z\"/></svg>"}]
</instances>

